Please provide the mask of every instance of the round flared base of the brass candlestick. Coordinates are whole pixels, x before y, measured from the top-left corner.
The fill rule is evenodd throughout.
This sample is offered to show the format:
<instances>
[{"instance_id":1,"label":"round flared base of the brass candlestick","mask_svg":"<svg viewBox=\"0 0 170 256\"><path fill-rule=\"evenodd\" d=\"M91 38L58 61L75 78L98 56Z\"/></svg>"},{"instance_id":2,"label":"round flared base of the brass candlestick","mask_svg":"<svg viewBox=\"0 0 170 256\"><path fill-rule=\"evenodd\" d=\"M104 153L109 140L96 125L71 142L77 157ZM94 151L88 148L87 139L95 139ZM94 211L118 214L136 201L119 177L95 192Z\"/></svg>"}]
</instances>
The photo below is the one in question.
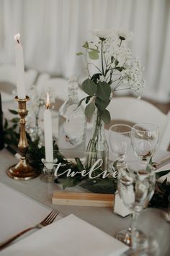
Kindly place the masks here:
<instances>
[{"instance_id":1,"label":"round flared base of the brass candlestick","mask_svg":"<svg viewBox=\"0 0 170 256\"><path fill-rule=\"evenodd\" d=\"M28 180L37 177L40 171L30 166L25 158L21 158L19 163L10 166L6 173L12 179Z\"/></svg>"}]
</instances>

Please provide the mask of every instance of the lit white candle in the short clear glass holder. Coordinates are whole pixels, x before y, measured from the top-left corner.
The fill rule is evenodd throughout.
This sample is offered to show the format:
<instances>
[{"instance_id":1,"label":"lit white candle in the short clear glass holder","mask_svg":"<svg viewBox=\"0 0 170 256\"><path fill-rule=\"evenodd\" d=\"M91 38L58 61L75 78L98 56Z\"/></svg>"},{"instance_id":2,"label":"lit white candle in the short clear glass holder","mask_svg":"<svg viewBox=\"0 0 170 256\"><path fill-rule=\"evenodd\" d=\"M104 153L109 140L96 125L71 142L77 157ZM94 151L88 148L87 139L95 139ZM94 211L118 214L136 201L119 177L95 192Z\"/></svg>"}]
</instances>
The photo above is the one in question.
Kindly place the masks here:
<instances>
[{"instance_id":1,"label":"lit white candle in the short clear glass holder","mask_svg":"<svg viewBox=\"0 0 170 256\"><path fill-rule=\"evenodd\" d=\"M49 107L50 100L49 94L47 94L46 109L44 111L45 161L53 162L52 119Z\"/></svg>"}]
</instances>

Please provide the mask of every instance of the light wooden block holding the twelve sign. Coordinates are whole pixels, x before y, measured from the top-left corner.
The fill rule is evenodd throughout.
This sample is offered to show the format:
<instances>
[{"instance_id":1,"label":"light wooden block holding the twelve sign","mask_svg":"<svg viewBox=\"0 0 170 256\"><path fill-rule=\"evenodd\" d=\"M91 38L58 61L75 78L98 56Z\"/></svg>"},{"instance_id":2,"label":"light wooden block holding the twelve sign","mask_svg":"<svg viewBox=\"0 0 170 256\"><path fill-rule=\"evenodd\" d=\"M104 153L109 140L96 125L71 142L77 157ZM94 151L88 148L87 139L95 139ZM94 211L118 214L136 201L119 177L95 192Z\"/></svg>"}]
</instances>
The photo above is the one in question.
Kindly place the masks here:
<instances>
[{"instance_id":1,"label":"light wooden block holding the twelve sign","mask_svg":"<svg viewBox=\"0 0 170 256\"><path fill-rule=\"evenodd\" d=\"M79 205L112 207L115 195L84 192L55 191L52 197L53 205Z\"/></svg>"}]
</instances>

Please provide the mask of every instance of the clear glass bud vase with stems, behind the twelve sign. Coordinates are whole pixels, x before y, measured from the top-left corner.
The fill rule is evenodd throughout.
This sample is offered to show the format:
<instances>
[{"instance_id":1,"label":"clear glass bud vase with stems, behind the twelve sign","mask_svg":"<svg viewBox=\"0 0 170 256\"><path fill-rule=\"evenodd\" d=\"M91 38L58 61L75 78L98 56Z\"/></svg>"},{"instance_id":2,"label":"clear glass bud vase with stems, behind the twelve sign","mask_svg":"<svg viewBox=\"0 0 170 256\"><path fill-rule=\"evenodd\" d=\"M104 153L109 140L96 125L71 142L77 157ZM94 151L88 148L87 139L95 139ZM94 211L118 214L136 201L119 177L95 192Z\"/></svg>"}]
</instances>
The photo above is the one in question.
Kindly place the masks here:
<instances>
[{"instance_id":1,"label":"clear glass bud vase with stems, behind the twelve sign","mask_svg":"<svg viewBox=\"0 0 170 256\"><path fill-rule=\"evenodd\" d=\"M104 122L96 109L91 140L86 148L86 168L91 168L98 159L102 159L102 170L107 170L109 147L104 132Z\"/></svg>"}]
</instances>

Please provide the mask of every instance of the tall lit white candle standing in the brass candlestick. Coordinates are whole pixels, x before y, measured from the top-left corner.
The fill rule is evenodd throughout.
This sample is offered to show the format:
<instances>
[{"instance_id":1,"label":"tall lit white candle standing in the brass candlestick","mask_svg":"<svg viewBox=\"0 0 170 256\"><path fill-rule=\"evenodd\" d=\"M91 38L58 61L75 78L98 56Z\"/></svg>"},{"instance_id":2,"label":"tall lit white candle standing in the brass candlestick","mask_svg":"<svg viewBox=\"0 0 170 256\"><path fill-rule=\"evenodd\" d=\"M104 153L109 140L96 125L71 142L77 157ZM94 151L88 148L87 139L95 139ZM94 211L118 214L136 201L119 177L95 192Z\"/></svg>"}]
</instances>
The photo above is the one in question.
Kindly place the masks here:
<instances>
[{"instance_id":1,"label":"tall lit white candle standing in the brass candlestick","mask_svg":"<svg viewBox=\"0 0 170 256\"><path fill-rule=\"evenodd\" d=\"M19 42L20 34L14 35L16 41L15 46L15 62L16 62L16 75L17 75L17 95L19 99L26 98L25 84L24 84L24 56L23 47Z\"/></svg>"}]
</instances>

